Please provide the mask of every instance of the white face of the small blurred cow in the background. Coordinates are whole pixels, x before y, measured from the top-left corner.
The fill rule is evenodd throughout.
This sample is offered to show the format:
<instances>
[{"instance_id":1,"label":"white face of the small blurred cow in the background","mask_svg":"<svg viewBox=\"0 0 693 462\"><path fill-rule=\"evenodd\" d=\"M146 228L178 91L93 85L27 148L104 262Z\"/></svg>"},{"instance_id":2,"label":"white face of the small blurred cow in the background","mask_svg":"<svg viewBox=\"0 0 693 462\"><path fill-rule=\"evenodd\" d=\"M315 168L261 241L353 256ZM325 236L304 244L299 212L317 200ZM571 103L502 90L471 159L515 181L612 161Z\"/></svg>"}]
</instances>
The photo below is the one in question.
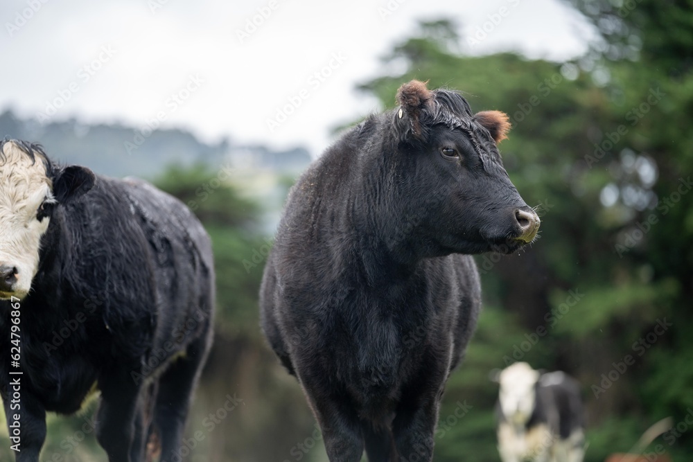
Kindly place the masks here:
<instances>
[{"instance_id":1,"label":"white face of the small blurred cow in the background","mask_svg":"<svg viewBox=\"0 0 693 462\"><path fill-rule=\"evenodd\" d=\"M516 362L500 372L500 408L511 423L524 425L534 411L534 386L539 373L526 362Z\"/></svg>"}]
</instances>

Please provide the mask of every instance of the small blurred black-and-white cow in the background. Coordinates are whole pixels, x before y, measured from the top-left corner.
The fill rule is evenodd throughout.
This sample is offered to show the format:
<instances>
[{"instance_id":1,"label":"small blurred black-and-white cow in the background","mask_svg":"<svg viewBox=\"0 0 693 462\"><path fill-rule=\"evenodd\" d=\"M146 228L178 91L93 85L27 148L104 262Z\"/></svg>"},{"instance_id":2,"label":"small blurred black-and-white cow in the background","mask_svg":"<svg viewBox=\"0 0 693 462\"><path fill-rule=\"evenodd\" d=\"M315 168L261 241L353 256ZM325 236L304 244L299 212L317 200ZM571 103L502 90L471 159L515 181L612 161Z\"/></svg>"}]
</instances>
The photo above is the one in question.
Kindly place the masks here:
<instances>
[{"instance_id":1,"label":"small blurred black-and-white cow in the background","mask_svg":"<svg viewBox=\"0 0 693 462\"><path fill-rule=\"evenodd\" d=\"M542 374L526 362L497 377L498 452L503 462L581 462L584 410L577 381Z\"/></svg>"}]
</instances>

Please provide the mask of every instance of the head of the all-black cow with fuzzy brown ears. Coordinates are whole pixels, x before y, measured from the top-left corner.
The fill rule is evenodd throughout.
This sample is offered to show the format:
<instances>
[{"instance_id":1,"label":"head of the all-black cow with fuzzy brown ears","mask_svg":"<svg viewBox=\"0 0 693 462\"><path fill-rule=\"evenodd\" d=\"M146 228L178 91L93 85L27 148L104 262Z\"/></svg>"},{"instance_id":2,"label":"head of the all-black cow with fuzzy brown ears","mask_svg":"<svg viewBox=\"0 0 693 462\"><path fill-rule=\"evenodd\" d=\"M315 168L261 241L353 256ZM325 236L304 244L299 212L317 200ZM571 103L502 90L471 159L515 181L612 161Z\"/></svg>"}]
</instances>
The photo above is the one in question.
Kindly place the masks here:
<instances>
[{"instance_id":1,"label":"head of the all-black cow with fuzzy brown ears","mask_svg":"<svg viewBox=\"0 0 693 462\"><path fill-rule=\"evenodd\" d=\"M509 254L532 242L539 217L510 181L496 146L510 128L507 116L473 114L456 91L430 91L416 80L400 87L397 103L394 132L400 160L409 165L394 182L426 209L416 226L425 229L429 254Z\"/></svg>"}]
</instances>

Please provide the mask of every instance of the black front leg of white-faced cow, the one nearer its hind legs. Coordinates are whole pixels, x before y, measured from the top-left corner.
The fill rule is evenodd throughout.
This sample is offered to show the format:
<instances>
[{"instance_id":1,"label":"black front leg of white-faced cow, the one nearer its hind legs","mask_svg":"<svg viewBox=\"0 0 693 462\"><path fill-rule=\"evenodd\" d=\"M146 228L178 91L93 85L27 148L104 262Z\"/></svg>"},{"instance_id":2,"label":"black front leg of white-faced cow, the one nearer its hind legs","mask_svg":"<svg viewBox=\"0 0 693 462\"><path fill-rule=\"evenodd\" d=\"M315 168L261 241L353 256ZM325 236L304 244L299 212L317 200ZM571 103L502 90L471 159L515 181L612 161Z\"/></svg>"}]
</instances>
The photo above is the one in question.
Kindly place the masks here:
<instances>
[{"instance_id":1,"label":"black front leg of white-faced cow, the one nearer its hind legs","mask_svg":"<svg viewBox=\"0 0 693 462\"><path fill-rule=\"evenodd\" d=\"M101 390L96 419L98 443L108 454L109 462L139 462L130 459L130 450L140 384L130 377L130 371L123 370L109 371L99 377L98 384Z\"/></svg>"}]
</instances>

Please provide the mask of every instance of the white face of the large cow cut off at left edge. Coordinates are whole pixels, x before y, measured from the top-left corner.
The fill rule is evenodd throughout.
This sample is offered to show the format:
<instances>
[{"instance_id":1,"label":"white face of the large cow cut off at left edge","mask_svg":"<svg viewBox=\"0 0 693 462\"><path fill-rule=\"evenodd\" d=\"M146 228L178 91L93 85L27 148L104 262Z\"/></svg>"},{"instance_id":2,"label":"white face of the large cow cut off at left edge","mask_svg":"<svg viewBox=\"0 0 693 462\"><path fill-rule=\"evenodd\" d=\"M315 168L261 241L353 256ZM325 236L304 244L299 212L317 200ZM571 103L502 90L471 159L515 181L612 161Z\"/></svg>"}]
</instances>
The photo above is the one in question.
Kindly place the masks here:
<instances>
[{"instance_id":1,"label":"white face of the large cow cut off at left edge","mask_svg":"<svg viewBox=\"0 0 693 462\"><path fill-rule=\"evenodd\" d=\"M41 236L49 217L37 219L44 201L55 202L51 179L46 177L44 159L31 158L15 143L3 146L0 156L0 267L15 268L17 281L10 292L0 291L0 299L23 298L38 271Z\"/></svg>"}]
</instances>

